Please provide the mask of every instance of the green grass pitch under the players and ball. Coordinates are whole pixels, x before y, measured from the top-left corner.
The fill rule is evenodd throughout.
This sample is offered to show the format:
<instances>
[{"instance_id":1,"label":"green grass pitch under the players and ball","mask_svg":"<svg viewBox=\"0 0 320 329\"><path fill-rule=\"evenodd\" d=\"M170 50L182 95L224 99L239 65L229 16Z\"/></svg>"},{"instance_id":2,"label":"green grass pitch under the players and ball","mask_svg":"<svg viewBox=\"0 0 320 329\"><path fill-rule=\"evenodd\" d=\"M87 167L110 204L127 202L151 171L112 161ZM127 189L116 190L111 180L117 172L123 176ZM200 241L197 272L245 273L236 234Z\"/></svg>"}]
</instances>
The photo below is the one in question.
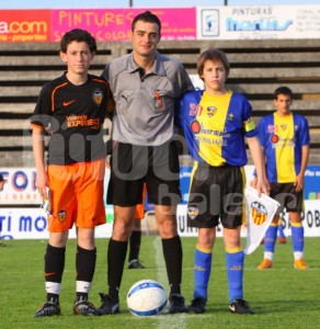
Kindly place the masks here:
<instances>
[{"instance_id":1,"label":"green grass pitch under the players and ball","mask_svg":"<svg viewBox=\"0 0 320 329\"><path fill-rule=\"evenodd\" d=\"M193 256L196 238L183 238L183 285L187 300L193 293ZM37 307L45 299L44 252L46 241L12 240L0 248L0 328L320 328L320 243L319 238L306 238L305 254L308 271L293 268L290 239L277 245L274 269L256 270L263 258L263 247L245 258L244 298L255 315L239 316L228 310L228 293L222 239L218 238L214 252L209 285L209 300L204 315L162 314L150 318L130 315L126 308L126 293L138 280L153 279L168 287L162 247L159 237L142 237L140 259L146 270L125 269L121 288L121 314L103 317L76 317L75 247L69 240L62 280L60 317L35 319ZM99 306L99 292L106 292L107 239L98 239L98 262L90 300Z\"/></svg>"}]
</instances>

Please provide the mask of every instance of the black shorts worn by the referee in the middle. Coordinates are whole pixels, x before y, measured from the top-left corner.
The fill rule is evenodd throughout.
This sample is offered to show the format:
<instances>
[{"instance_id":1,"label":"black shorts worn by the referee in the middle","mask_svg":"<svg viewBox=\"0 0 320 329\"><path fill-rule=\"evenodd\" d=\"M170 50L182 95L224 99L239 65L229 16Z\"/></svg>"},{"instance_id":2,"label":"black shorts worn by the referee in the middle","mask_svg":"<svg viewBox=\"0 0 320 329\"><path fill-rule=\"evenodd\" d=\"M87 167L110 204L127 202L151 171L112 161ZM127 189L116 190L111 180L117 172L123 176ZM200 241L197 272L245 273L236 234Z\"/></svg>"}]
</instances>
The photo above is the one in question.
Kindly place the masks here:
<instances>
[{"instance_id":1,"label":"black shorts worn by the referee in the middle","mask_svg":"<svg viewBox=\"0 0 320 329\"><path fill-rule=\"evenodd\" d=\"M149 203L181 203L179 155L173 140L160 146L114 143L107 203L118 206L142 203L145 182Z\"/></svg>"}]
</instances>

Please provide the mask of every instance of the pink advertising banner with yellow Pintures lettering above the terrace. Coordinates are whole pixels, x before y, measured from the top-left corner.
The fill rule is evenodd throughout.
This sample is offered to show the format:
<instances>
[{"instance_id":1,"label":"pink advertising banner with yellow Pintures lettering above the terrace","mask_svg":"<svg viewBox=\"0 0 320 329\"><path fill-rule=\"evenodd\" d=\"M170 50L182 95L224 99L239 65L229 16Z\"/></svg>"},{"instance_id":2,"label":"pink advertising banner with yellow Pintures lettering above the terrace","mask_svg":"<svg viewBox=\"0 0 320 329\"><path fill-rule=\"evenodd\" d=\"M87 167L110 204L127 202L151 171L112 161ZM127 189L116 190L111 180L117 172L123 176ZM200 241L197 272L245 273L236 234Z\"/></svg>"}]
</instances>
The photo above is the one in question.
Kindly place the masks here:
<instances>
[{"instance_id":1,"label":"pink advertising banner with yellow Pintures lettering above the terrace","mask_svg":"<svg viewBox=\"0 0 320 329\"><path fill-rule=\"evenodd\" d=\"M53 41L71 29L88 30L98 42L129 41L133 19L147 9L53 10ZM161 21L161 39L195 39L195 8L152 8Z\"/></svg>"}]
</instances>

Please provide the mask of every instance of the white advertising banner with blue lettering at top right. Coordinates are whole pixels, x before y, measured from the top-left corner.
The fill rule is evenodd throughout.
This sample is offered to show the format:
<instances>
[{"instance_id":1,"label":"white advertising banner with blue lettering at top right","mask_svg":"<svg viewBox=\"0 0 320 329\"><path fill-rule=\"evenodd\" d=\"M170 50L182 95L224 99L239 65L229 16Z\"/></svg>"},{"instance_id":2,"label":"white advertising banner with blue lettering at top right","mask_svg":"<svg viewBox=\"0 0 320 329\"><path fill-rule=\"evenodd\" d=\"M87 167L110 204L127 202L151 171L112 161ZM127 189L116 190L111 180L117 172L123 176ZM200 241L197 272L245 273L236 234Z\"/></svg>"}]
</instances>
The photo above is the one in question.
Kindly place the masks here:
<instances>
[{"instance_id":1,"label":"white advertising banner with blue lettering at top right","mask_svg":"<svg viewBox=\"0 0 320 329\"><path fill-rule=\"evenodd\" d=\"M197 39L319 38L319 33L320 5L197 7Z\"/></svg>"}]
</instances>

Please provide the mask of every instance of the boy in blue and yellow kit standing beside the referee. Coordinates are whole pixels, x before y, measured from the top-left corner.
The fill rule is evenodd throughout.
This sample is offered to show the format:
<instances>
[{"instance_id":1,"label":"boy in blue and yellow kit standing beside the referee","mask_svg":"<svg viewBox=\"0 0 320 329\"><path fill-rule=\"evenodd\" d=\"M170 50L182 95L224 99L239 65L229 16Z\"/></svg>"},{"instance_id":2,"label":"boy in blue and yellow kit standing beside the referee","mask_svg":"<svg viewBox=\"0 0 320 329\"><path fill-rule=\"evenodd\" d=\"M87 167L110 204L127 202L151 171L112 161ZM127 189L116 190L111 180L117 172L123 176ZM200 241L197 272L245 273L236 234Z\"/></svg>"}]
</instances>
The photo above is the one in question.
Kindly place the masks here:
<instances>
[{"instance_id":1,"label":"boy in blue and yellow kit standing beside the referee","mask_svg":"<svg viewBox=\"0 0 320 329\"><path fill-rule=\"evenodd\" d=\"M247 138L258 173L256 190L266 193L264 164L251 105L225 88L229 61L224 52L209 48L201 54L197 71L204 91L182 98L178 124L183 128L194 159L187 204L187 225L198 228L194 263L194 296L188 310L205 311L212 272L216 227L224 226L229 287L229 308L236 314L253 314L243 299L244 253L240 245L243 220L243 189Z\"/></svg>"}]
</instances>

